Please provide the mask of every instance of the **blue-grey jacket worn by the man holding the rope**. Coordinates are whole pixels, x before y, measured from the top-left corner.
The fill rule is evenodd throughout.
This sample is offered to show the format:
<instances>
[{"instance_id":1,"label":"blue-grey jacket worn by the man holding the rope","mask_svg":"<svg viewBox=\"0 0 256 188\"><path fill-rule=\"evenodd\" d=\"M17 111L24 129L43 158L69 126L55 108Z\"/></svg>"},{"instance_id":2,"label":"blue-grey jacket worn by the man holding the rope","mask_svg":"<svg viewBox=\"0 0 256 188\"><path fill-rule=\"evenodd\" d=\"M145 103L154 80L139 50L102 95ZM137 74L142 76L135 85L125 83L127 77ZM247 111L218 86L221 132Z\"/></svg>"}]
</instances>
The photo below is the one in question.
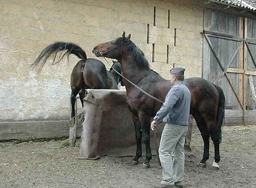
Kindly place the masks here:
<instances>
[{"instance_id":1,"label":"blue-grey jacket worn by the man holding the rope","mask_svg":"<svg viewBox=\"0 0 256 188\"><path fill-rule=\"evenodd\" d=\"M175 83L165 97L161 109L154 120L169 124L189 125L191 93L183 81Z\"/></svg>"}]
</instances>

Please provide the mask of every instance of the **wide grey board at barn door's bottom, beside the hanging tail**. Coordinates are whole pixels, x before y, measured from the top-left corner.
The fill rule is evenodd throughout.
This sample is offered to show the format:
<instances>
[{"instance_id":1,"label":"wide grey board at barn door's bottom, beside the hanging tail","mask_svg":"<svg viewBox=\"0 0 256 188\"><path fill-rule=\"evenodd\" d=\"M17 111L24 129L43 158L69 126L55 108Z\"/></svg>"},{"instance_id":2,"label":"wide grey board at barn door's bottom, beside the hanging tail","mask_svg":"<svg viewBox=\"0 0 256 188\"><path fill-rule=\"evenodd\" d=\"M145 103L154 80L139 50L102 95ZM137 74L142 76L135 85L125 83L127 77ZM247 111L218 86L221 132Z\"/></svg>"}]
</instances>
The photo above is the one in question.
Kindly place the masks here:
<instances>
[{"instance_id":1,"label":"wide grey board at barn door's bottom, beside the hanging tail","mask_svg":"<svg viewBox=\"0 0 256 188\"><path fill-rule=\"evenodd\" d=\"M243 125L243 110L225 110L224 125Z\"/></svg>"}]
</instances>

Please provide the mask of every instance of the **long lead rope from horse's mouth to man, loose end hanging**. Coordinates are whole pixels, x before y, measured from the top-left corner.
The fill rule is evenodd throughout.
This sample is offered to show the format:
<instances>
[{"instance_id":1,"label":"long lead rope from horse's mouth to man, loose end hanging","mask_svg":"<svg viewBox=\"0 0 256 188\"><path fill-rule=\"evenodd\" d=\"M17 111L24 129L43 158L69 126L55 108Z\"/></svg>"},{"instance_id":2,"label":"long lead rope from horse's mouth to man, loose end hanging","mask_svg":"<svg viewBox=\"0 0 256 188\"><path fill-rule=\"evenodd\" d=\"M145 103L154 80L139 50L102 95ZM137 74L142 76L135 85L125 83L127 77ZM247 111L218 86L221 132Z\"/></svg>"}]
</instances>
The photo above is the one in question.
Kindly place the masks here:
<instances>
[{"instance_id":1,"label":"long lead rope from horse's mouth to man, loose end hanging","mask_svg":"<svg viewBox=\"0 0 256 188\"><path fill-rule=\"evenodd\" d=\"M106 58L102 55L102 53L100 52L100 55L106 60ZM108 61L106 60L106 62L108 63ZM108 63L108 65L110 65ZM111 66L111 65L110 65ZM113 67L112 67L113 68ZM158 98L152 96L151 94L149 94L148 92L145 92L143 89L139 88L139 86L137 86L135 83L133 83L132 81L128 80L126 77L124 77L123 75L121 75L120 73L118 73L115 68L113 68L113 70L121 77L123 77L124 79L126 79L130 84L132 84L133 86L135 86L135 88L139 89L141 92L143 92L144 94L148 95L150 98L153 98L154 100L160 102L160 103L163 103L162 100L159 100ZM155 149L156 149L156 155L157 155L157 160L158 160L158 163L159 165L162 167L161 165L161 161L160 161L160 158L159 158L159 152L158 152L158 144L157 144L157 141L156 141L156 131L154 131L154 145L155 145Z\"/></svg>"}]
</instances>

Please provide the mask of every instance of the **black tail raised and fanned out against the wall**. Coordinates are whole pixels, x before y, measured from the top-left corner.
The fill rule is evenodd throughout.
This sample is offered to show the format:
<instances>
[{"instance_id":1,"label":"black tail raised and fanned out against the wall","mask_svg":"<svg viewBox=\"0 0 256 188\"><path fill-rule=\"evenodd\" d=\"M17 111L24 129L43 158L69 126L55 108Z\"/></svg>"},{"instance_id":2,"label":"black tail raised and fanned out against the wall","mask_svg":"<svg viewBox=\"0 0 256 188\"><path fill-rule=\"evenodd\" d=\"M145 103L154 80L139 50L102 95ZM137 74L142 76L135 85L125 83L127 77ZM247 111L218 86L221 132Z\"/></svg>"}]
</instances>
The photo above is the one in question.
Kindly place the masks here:
<instances>
[{"instance_id":1,"label":"black tail raised and fanned out against the wall","mask_svg":"<svg viewBox=\"0 0 256 188\"><path fill-rule=\"evenodd\" d=\"M62 54L63 51L65 51L65 50L67 50L67 51L64 54ZM61 54L59 56L58 61L54 62L58 52L61 52ZM49 45L45 49L43 49L43 51L39 54L38 58L35 60L35 62L32 65L35 67L37 64L39 64L39 62L41 60L43 60L43 62L40 65L40 68L38 70L38 73L39 73L42 70L43 65L46 63L46 60L51 55L53 55L52 64L56 64L56 63L59 63L66 55L67 55L67 58L69 58L70 54L74 54L78 58L80 58L84 61L87 60L85 51L83 51L83 49L81 47L79 47L78 45L75 45L73 43L56 42L56 43Z\"/></svg>"}]
</instances>

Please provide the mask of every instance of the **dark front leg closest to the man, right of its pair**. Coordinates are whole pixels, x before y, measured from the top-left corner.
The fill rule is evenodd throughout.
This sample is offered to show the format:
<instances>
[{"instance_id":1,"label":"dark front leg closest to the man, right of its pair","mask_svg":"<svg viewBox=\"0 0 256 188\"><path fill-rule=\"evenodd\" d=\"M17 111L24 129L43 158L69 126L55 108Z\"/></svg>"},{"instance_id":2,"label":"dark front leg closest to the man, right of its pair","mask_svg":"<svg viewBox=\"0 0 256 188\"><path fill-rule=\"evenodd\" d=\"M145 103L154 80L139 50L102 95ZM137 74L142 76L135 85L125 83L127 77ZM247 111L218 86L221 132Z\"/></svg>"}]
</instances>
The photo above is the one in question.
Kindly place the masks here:
<instances>
[{"instance_id":1,"label":"dark front leg closest to the man, right of its pair","mask_svg":"<svg viewBox=\"0 0 256 188\"><path fill-rule=\"evenodd\" d=\"M152 159L152 153L150 148L150 116L145 113L139 113L139 120L141 122L142 140L146 147L146 159L143 162L145 168L150 167L150 160Z\"/></svg>"}]
</instances>

